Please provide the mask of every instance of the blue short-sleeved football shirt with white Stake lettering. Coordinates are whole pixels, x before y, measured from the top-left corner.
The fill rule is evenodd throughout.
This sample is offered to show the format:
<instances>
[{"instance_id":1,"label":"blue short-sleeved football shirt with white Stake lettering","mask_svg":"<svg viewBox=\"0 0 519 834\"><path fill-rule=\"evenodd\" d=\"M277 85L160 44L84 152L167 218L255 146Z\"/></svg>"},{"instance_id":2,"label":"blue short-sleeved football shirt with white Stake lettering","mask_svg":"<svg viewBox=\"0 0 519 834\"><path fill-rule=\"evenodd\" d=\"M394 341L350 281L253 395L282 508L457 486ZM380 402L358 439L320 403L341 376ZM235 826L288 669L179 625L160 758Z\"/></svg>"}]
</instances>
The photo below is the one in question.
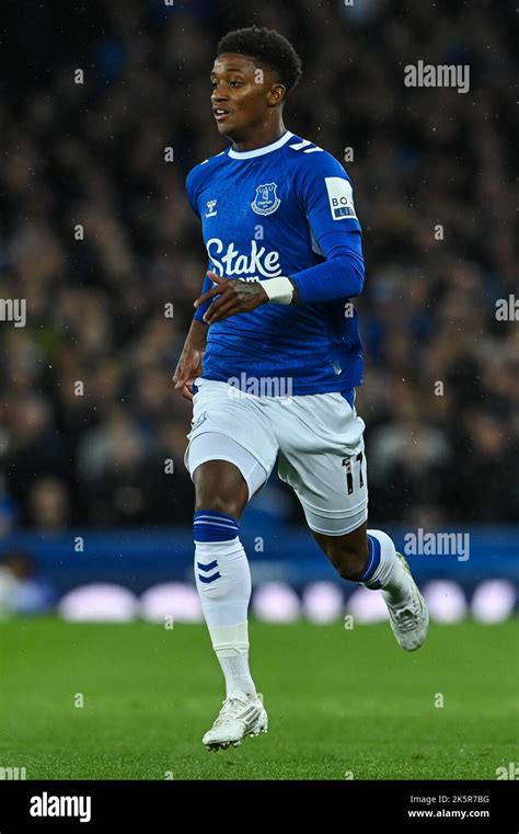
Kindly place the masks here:
<instances>
[{"instance_id":1,"label":"blue short-sleeved football shirt with white Stake lettering","mask_svg":"<svg viewBox=\"0 0 519 834\"><path fill-rule=\"evenodd\" d=\"M208 269L227 278L290 276L325 261L326 236L360 235L343 165L289 130L263 148L210 157L189 171L186 191ZM209 325L203 377L284 378L296 396L349 391L362 381L362 356L347 302L269 302Z\"/></svg>"}]
</instances>

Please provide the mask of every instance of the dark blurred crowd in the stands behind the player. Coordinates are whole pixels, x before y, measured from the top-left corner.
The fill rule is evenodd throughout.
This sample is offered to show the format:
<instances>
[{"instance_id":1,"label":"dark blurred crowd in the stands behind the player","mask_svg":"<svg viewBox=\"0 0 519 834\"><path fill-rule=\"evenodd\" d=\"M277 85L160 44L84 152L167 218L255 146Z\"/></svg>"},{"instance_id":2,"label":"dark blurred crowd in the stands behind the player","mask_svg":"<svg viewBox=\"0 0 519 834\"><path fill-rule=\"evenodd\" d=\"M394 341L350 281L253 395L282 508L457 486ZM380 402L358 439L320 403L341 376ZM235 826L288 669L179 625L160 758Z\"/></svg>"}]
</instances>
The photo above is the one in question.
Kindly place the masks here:
<instances>
[{"instance_id":1,"label":"dark blurred crowd in the stands behind the player","mask_svg":"<svg viewBox=\"0 0 519 834\"><path fill-rule=\"evenodd\" d=\"M184 180L226 147L209 71L218 39L252 23L303 62L286 126L343 161L356 190L372 524L518 516L519 331L496 318L517 292L511 7L247 5L14 12L0 297L26 299L26 325L0 321L2 532L191 523L191 407L172 375L206 256ZM420 59L469 65L470 91L406 88ZM268 490L298 523L286 488Z\"/></svg>"}]
</instances>

